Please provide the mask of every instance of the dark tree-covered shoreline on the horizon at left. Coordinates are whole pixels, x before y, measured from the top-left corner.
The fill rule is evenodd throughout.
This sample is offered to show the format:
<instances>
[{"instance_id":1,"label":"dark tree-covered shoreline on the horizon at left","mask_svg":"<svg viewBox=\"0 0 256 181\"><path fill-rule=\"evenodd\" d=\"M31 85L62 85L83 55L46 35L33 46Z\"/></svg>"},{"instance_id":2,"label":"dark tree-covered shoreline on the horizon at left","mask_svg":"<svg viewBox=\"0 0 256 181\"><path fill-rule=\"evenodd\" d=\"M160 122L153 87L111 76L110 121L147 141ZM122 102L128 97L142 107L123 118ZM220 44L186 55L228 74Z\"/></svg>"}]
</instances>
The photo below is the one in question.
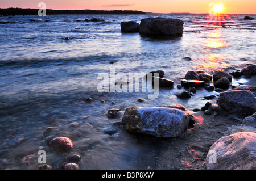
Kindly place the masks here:
<instances>
[{"instance_id":1,"label":"dark tree-covered shoreline on the horizon at left","mask_svg":"<svg viewBox=\"0 0 256 181\"><path fill-rule=\"evenodd\" d=\"M7 8L0 9L2 15L37 15L39 9L22 9L22 8ZM131 11L131 10L51 10L46 9L46 14L146 14L142 11Z\"/></svg>"}]
</instances>

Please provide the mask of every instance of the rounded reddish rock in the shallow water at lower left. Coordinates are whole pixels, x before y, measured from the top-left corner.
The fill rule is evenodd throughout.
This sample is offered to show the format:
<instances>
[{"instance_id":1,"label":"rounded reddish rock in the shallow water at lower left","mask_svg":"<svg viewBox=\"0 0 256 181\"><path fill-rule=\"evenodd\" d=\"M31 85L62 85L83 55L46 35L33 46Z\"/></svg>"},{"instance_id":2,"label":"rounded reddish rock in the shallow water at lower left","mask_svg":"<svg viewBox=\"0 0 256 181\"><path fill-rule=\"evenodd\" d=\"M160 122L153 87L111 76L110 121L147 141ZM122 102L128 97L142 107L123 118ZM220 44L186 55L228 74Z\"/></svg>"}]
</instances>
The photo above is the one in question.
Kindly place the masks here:
<instances>
[{"instance_id":1,"label":"rounded reddish rock in the shallow water at lower left","mask_svg":"<svg viewBox=\"0 0 256 181\"><path fill-rule=\"evenodd\" d=\"M57 152L67 153L73 149L73 141L67 137L56 137L49 142L49 146Z\"/></svg>"}]
</instances>

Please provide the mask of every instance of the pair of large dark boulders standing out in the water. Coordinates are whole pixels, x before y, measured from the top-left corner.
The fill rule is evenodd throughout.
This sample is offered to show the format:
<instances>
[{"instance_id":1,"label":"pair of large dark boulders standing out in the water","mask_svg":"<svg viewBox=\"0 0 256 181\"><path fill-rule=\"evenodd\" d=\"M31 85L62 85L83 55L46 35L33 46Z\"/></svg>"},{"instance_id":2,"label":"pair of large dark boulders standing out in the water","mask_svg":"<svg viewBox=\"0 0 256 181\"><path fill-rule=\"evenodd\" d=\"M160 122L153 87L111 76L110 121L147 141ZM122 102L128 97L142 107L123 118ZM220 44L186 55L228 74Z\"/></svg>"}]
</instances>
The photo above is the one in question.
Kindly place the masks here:
<instances>
[{"instance_id":1,"label":"pair of large dark boulders standing out in the water","mask_svg":"<svg viewBox=\"0 0 256 181\"><path fill-rule=\"evenodd\" d=\"M122 32L139 32L150 36L181 36L184 22L171 18L144 18L141 23L134 21L121 22Z\"/></svg>"}]
</instances>

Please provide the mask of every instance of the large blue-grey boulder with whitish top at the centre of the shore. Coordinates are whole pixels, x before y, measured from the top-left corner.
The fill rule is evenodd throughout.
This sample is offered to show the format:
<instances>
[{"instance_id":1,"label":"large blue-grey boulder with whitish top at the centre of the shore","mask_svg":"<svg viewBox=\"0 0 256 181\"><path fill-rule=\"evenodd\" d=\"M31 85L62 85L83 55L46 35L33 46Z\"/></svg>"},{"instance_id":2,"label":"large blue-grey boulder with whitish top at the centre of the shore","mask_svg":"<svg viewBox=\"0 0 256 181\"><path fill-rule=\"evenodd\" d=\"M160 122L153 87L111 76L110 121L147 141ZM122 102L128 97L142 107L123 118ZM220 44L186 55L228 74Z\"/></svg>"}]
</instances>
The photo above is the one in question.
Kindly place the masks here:
<instances>
[{"instance_id":1,"label":"large blue-grey boulder with whitish top at the centre of the shore","mask_svg":"<svg viewBox=\"0 0 256 181\"><path fill-rule=\"evenodd\" d=\"M127 131L163 138L180 136L188 124L189 118L183 111L167 107L129 107L122 118Z\"/></svg>"}]
</instances>

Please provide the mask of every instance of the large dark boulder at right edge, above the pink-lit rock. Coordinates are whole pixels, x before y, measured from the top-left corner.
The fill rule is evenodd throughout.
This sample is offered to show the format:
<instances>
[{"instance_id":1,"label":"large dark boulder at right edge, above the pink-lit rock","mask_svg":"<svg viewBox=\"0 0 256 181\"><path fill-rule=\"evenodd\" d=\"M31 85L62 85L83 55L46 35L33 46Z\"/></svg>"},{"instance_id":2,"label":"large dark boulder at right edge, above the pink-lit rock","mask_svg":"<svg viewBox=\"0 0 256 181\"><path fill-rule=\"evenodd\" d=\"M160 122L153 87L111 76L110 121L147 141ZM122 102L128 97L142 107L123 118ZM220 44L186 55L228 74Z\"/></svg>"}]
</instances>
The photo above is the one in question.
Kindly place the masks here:
<instances>
[{"instance_id":1,"label":"large dark boulder at right edge, above the pink-lit rock","mask_svg":"<svg viewBox=\"0 0 256 181\"><path fill-rule=\"evenodd\" d=\"M256 111L256 98L251 91L234 90L220 93L218 105L239 115L251 115Z\"/></svg>"}]
</instances>

